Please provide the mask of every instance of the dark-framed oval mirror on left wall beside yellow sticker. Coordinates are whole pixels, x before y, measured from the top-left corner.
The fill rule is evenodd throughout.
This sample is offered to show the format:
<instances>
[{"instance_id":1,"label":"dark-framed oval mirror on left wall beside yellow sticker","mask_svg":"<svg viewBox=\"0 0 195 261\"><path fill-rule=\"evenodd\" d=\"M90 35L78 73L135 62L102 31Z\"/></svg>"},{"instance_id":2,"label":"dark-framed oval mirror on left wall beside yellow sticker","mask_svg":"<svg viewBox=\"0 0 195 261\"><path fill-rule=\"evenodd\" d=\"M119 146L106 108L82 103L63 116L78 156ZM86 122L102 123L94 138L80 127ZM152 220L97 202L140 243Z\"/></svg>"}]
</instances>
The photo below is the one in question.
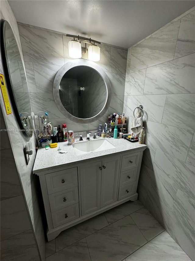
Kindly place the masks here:
<instances>
[{"instance_id":1,"label":"dark-framed oval mirror on left wall beside yellow sticker","mask_svg":"<svg viewBox=\"0 0 195 261\"><path fill-rule=\"evenodd\" d=\"M28 137L32 137L32 119L30 95L23 67L22 58L19 53L17 42L8 21L3 21L1 28L1 46L4 64L6 65L5 78L7 81L7 88L12 102L16 119L18 121L20 130L25 132Z\"/></svg>"}]
</instances>

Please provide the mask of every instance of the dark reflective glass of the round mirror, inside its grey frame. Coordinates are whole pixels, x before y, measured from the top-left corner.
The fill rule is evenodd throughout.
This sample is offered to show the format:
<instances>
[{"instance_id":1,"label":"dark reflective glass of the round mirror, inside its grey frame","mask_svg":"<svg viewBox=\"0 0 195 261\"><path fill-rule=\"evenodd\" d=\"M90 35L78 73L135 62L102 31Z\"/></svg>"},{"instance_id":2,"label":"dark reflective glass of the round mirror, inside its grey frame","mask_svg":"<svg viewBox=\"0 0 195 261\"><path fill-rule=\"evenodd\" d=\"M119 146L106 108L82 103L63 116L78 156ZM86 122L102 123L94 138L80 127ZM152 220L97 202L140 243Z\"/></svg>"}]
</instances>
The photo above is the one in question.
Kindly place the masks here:
<instances>
[{"instance_id":1,"label":"dark reflective glass of the round mirror, inside its grey frame","mask_svg":"<svg viewBox=\"0 0 195 261\"><path fill-rule=\"evenodd\" d=\"M102 110L107 91L97 71L88 66L76 66L62 77L59 95L62 105L70 114L86 119Z\"/></svg>"}]
</instances>

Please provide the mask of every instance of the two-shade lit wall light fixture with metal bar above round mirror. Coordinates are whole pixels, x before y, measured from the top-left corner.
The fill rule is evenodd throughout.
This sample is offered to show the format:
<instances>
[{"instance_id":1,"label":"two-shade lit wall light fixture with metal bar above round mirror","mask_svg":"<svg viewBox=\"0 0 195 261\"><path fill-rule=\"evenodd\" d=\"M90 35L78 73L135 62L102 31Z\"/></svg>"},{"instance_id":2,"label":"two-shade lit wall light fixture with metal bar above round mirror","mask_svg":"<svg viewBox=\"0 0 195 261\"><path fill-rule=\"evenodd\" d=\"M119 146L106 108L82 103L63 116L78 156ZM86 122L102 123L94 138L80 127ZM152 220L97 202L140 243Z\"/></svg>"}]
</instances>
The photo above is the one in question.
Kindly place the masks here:
<instances>
[{"instance_id":1,"label":"two-shade lit wall light fixture with metal bar above round mirror","mask_svg":"<svg viewBox=\"0 0 195 261\"><path fill-rule=\"evenodd\" d=\"M68 43L68 49L69 49L69 57L71 58L81 58L82 57L82 50L84 48L81 48L81 41L85 43L85 53L87 52L87 43L92 44L91 42L94 42L94 44L90 45L88 47L88 57L87 59L90 61L98 62L100 60L100 47L95 45L95 43L99 43L98 41L92 40L91 38L86 38L83 36L76 36L76 35L66 35L67 37L73 37L74 40L69 41ZM75 40L75 38L78 38L78 40Z\"/></svg>"}]
</instances>

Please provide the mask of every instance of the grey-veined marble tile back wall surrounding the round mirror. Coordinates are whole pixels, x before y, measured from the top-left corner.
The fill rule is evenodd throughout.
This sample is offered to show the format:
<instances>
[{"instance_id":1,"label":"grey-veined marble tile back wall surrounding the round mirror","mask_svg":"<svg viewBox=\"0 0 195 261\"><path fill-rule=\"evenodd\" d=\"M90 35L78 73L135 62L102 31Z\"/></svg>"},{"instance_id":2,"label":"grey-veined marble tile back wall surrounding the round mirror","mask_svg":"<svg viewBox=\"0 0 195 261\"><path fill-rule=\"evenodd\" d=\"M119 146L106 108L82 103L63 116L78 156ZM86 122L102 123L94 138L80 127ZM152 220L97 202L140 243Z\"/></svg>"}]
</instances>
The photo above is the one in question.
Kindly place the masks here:
<instances>
[{"instance_id":1,"label":"grey-veined marble tile back wall surrounding the round mirror","mask_svg":"<svg viewBox=\"0 0 195 261\"><path fill-rule=\"evenodd\" d=\"M123 109L127 50L101 44L100 61L97 62L108 75L112 85L112 100L106 114L98 121L80 124L70 121L57 108L52 85L56 73L66 62L72 61L68 55L68 42L72 40L62 33L27 24L18 24L25 64L28 65L27 80L34 113L47 111L49 121L54 126L66 123L67 129L75 132L98 129L99 124L108 121L108 115Z\"/></svg>"}]
</instances>

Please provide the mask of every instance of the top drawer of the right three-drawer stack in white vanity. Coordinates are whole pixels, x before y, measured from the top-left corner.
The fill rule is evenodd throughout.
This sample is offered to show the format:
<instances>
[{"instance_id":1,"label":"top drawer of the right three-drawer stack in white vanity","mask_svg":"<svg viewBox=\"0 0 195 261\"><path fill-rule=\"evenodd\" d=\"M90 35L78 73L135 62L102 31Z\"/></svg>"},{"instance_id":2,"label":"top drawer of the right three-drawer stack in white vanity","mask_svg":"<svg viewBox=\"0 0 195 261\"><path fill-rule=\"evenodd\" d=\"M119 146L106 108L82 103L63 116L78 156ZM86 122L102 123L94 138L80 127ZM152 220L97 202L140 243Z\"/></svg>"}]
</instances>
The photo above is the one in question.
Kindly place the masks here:
<instances>
[{"instance_id":1,"label":"top drawer of the right three-drawer stack in white vanity","mask_svg":"<svg viewBox=\"0 0 195 261\"><path fill-rule=\"evenodd\" d=\"M137 168L139 165L140 152L122 156L121 172Z\"/></svg>"}]
</instances>

